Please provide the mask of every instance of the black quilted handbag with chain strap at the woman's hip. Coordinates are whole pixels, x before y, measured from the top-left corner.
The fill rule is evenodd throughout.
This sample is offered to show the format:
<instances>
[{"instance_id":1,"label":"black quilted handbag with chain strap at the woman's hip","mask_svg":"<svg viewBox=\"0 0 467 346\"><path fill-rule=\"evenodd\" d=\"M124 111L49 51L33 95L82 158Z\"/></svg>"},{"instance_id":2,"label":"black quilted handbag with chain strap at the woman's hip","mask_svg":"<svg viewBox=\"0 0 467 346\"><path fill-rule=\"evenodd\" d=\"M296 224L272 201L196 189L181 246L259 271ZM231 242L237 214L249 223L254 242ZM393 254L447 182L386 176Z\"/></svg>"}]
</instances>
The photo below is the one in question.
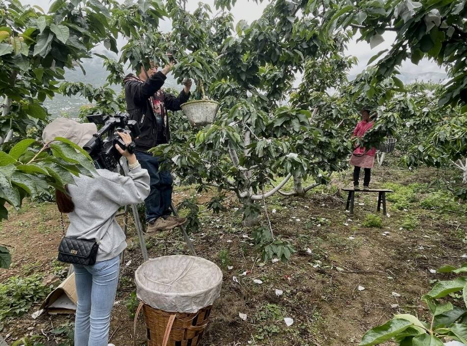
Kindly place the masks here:
<instances>
[{"instance_id":1,"label":"black quilted handbag with chain strap at the woman's hip","mask_svg":"<svg viewBox=\"0 0 467 346\"><path fill-rule=\"evenodd\" d=\"M95 239L78 239L65 237L65 227L63 225L63 216L61 218L63 238L58 246L58 260L60 262L92 265L96 262L97 250L99 244Z\"/></svg>"}]
</instances>

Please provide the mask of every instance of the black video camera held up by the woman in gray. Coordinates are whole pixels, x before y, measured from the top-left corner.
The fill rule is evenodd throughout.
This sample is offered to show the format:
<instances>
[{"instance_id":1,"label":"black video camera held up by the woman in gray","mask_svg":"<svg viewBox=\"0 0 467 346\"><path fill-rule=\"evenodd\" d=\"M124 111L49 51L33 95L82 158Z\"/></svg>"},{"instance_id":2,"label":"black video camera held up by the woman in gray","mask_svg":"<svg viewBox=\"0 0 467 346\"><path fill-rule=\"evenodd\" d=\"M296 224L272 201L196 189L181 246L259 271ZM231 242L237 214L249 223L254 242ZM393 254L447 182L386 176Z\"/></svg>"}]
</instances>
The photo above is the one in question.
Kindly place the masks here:
<instances>
[{"instance_id":1,"label":"black video camera held up by the woman in gray","mask_svg":"<svg viewBox=\"0 0 467 346\"><path fill-rule=\"evenodd\" d=\"M128 150L130 153L136 151L136 145L131 142L125 145L123 140L118 136L117 132L124 132L135 139L140 135L140 128L136 120L129 120L128 113L117 113L111 115L88 115L89 122L96 125L103 125L97 133L92 135L92 139L83 146L89 156L94 161L97 168L105 168L109 171L114 171L117 168L121 154L118 152L115 144L118 144L123 150ZM106 137L104 139L104 137Z\"/></svg>"}]
</instances>

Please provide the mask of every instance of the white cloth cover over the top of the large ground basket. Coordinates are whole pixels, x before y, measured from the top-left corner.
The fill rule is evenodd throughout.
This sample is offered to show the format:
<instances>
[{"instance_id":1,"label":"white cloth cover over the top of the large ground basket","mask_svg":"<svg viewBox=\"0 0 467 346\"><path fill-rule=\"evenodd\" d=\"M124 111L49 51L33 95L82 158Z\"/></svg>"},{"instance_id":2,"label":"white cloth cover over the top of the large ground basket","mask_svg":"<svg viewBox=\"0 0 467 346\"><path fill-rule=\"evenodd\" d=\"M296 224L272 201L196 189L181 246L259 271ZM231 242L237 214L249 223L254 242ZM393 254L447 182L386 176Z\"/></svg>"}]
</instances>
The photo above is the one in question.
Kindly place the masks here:
<instances>
[{"instance_id":1,"label":"white cloth cover over the top of the large ground basket","mask_svg":"<svg viewBox=\"0 0 467 346\"><path fill-rule=\"evenodd\" d=\"M191 313L219 297L221 269L195 256L149 259L136 270L136 293L145 304L167 312Z\"/></svg>"}]
</instances>

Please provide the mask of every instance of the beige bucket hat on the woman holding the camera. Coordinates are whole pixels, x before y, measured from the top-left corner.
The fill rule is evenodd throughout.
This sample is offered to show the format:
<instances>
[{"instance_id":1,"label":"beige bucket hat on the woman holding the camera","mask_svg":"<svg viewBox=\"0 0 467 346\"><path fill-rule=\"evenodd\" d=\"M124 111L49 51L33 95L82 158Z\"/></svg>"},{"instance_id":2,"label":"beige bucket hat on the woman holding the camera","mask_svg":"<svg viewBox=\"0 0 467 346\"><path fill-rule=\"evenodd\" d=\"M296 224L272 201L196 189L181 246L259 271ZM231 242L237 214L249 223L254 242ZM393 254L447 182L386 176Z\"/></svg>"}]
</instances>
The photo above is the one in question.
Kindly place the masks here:
<instances>
[{"instance_id":1,"label":"beige bucket hat on the woman holding the camera","mask_svg":"<svg viewBox=\"0 0 467 346\"><path fill-rule=\"evenodd\" d=\"M92 122L80 123L68 118L57 118L44 128L42 140L48 143L56 137L63 137L82 147L96 132L96 124Z\"/></svg>"}]
</instances>

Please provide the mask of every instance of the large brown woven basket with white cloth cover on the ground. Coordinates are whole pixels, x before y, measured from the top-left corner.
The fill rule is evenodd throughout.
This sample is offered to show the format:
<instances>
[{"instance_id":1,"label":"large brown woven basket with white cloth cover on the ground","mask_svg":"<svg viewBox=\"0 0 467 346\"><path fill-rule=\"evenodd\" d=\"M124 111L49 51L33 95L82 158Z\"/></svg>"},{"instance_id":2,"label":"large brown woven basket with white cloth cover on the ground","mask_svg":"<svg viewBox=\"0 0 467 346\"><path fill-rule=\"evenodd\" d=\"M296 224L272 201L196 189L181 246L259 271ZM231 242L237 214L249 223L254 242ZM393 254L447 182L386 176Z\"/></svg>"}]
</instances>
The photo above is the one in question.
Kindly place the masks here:
<instances>
[{"instance_id":1,"label":"large brown woven basket with white cloth cover on the ground","mask_svg":"<svg viewBox=\"0 0 467 346\"><path fill-rule=\"evenodd\" d=\"M147 346L197 346L212 304L220 294L222 271L195 256L149 259L135 272L136 294L142 300Z\"/></svg>"}]
</instances>

